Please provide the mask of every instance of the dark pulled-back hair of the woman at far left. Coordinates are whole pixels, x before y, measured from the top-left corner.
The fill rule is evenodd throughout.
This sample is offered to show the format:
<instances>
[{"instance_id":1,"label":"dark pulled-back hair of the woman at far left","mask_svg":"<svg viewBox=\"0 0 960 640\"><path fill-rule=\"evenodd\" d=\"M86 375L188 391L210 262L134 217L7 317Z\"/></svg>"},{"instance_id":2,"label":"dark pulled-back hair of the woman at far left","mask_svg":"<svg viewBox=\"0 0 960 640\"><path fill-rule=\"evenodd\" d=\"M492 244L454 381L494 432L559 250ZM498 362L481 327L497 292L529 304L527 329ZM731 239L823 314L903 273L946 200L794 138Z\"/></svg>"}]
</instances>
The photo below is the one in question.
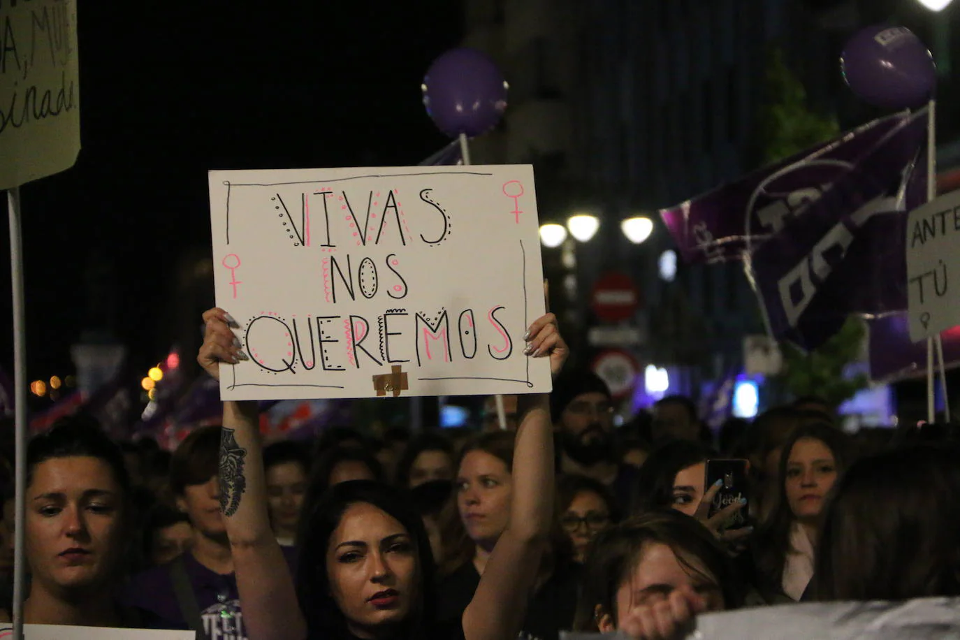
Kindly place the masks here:
<instances>
[{"instance_id":1,"label":"dark pulled-back hair of the woman at far left","mask_svg":"<svg viewBox=\"0 0 960 640\"><path fill-rule=\"evenodd\" d=\"M110 467L113 480L130 497L130 474L120 447L100 428L90 415L61 417L53 426L37 434L27 445L27 486L34 480L36 465L55 458L96 458Z\"/></svg>"}]
</instances>

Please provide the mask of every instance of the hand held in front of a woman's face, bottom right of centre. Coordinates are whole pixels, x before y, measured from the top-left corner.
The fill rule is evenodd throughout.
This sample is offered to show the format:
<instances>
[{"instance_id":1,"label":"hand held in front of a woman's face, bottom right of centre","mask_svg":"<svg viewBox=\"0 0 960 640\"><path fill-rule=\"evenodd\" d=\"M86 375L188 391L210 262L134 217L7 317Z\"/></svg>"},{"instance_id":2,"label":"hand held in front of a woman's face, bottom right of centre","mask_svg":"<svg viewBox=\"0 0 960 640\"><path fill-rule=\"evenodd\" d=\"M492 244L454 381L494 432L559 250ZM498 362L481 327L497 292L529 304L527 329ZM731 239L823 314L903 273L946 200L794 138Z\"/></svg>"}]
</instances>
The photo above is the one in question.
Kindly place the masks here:
<instances>
[{"instance_id":1,"label":"hand held in front of a woman's face, bottom right of centre","mask_svg":"<svg viewBox=\"0 0 960 640\"><path fill-rule=\"evenodd\" d=\"M693 617L706 609L703 597L684 585L659 602L628 610L620 617L617 630L634 640L683 640Z\"/></svg>"}]
</instances>

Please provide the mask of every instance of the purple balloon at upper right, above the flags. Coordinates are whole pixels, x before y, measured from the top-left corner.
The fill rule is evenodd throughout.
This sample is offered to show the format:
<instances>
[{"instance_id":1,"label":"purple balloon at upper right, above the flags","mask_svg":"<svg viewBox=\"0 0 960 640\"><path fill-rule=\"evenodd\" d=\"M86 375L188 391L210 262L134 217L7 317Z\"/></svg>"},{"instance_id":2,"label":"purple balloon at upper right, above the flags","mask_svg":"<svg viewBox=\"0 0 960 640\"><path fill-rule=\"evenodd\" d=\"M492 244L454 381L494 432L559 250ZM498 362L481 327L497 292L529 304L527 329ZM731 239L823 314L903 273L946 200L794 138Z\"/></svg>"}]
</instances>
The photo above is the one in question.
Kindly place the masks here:
<instances>
[{"instance_id":1,"label":"purple balloon at upper right, above the flags","mask_svg":"<svg viewBox=\"0 0 960 640\"><path fill-rule=\"evenodd\" d=\"M840 58L855 94L883 108L920 107L933 97L937 68L929 50L909 29L874 26L857 32Z\"/></svg>"}]
</instances>

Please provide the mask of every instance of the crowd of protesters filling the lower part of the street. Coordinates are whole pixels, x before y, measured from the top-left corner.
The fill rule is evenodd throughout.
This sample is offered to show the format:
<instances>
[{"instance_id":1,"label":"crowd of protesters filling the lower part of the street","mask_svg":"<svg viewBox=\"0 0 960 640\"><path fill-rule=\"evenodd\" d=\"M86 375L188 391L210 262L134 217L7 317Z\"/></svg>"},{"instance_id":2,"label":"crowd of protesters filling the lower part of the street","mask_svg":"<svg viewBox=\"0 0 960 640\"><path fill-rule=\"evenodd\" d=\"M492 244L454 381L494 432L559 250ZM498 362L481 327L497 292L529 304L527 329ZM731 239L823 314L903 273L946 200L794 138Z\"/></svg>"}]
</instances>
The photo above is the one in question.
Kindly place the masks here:
<instances>
[{"instance_id":1,"label":"crowd of protesters filling the lower part of the street","mask_svg":"<svg viewBox=\"0 0 960 640\"><path fill-rule=\"evenodd\" d=\"M198 361L240 357L204 315ZM255 403L176 451L84 415L27 452L28 623L195 629L209 640L682 638L702 612L960 595L960 445L944 425L849 436L816 398L712 434L666 397L614 428L564 370L552 316L527 335L554 391L506 398L467 439L366 425L263 444ZM496 412L488 412L496 416ZM711 461L746 461L720 504ZM12 494L0 600L12 604Z\"/></svg>"}]
</instances>

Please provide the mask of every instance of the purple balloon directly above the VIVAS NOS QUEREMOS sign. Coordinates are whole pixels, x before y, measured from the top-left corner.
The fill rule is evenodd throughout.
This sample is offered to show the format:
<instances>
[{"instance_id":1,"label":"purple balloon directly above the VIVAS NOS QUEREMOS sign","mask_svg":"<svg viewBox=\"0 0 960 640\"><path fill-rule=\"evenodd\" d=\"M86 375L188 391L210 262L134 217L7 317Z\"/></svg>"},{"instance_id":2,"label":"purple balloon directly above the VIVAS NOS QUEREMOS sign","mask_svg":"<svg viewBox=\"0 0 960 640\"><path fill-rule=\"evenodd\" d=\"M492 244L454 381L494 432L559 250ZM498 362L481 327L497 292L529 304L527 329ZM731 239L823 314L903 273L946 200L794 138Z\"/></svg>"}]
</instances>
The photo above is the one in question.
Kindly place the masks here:
<instances>
[{"instance_id":1,"label":"purple balloon directly above the VIVAS NOS QUEREMOS sign","mask_svg":"<svg viewBox=\"0 0 960 640\"><path fill-rule=\"evenodd\" d=\"M450 137L479 135L496 126L507 108L507 83L486 54L451 49L423 78L423 106Z\"/></svg>"}]
</instances>

